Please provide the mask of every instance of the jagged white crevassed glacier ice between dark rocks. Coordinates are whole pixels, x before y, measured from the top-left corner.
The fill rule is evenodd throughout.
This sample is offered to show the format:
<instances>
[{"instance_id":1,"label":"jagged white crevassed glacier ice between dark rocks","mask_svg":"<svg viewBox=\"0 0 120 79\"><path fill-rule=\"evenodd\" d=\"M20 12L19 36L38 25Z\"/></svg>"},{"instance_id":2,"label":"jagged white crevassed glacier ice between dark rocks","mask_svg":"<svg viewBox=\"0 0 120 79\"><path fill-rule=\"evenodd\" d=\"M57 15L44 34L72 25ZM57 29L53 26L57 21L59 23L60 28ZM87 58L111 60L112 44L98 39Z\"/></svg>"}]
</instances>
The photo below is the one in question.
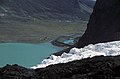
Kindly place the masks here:
<instances>
[{"instance_id":1,"label":"jagged white crevassed glacier ice between dark rocks","mask_svg":"<svg viewBox=\"0 0 120 79\"><path fill-rule=\"evenodd\" d=\"M46 66L58 63L67 63L74 60L81 60L84 58L91 58L94 56L116 56L120 55L120 41L113 41L107 43L90 44L84 48L72 48L69 53L63 53L61 56L51 55L48 59L44 59L37 66L31 68L44 68Z\"/></svg>"}]
</instances>

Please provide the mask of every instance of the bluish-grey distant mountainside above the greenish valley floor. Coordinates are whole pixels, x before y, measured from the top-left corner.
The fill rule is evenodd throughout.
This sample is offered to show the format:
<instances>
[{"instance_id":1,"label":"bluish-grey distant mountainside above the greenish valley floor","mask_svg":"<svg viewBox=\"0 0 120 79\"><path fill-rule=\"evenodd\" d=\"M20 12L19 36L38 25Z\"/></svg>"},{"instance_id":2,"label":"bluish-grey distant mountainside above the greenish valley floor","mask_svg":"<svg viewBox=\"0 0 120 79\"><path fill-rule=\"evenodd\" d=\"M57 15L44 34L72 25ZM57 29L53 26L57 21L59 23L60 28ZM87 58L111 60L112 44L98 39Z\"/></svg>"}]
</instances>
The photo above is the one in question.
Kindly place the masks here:
<instances>
[{"instance_id":1,"label":"bluish-grey distant mountainside above the greenish valley floor","mask_svg":"<svg viewBox=\"0 0 120 79\"><path fill-rule=\"evenodd\" d=\"M88 20L93 0L0 0L0 19Z\"/></svg>"}]
</instances>

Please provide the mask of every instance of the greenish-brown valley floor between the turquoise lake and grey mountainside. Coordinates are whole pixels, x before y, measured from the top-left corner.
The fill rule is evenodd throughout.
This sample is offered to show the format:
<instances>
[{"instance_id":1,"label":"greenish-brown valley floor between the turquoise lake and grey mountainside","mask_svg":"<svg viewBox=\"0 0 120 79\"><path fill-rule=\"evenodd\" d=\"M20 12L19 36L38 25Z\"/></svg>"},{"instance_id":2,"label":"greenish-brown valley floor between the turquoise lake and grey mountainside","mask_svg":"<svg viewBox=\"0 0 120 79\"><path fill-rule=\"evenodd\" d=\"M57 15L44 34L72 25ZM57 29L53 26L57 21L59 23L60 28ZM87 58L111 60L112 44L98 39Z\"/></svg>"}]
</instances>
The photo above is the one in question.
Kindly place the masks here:
<instances>
[{"instance_id":1,"label":"greenish-brown valley floor between the turquoise lake and grey mountainside","mask_svg":"<svg viewBox=\"0 0 120 79\"><path fill-rule=\"evenodd\" d=\"M87 21L61 20L2 20L0 42L41 43L60 35L83 34Z\"/></svg>"}]
</instances>

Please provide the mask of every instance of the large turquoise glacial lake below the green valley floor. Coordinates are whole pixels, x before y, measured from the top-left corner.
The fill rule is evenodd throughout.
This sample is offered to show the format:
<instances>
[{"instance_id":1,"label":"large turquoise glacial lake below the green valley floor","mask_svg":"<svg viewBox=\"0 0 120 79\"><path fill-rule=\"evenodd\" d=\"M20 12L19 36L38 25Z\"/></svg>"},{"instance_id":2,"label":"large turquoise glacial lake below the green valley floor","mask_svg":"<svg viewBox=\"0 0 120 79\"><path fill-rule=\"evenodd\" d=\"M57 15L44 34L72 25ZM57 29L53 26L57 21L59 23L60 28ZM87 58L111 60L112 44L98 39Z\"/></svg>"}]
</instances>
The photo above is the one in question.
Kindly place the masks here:
<instances>
[{"instance_id":1,"label":"large turquoise glacial lake below the green valley floor","mask_svg":"<svg viewBox=\"0 0 120 79\"><path fill-rule=\"evenodd\" d=\"M40 44L0 43L0 67L6 64L31 67L59 50L49 42Z\"/></svg>"}]
</instances>

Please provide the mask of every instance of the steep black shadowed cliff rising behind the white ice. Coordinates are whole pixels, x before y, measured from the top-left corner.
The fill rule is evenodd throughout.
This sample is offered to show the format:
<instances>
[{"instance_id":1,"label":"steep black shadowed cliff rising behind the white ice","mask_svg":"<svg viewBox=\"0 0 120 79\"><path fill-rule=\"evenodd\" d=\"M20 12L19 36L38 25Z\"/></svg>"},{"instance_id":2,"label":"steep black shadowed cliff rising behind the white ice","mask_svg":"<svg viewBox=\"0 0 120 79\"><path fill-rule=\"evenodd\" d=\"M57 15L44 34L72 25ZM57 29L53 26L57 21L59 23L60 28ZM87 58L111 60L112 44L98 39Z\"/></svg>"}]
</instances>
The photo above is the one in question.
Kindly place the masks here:
<instances>
[{"instance_id":1,"label":"steep black shadowed cliff rising behind the white ice","mask_svg":"<svg viewBox=\"0 0 120 79\"><path fill-rule=\"evenodd\" d=\"M120 1L97 0L77 47L120 39Z\"/></svg>"}]
</instances>

